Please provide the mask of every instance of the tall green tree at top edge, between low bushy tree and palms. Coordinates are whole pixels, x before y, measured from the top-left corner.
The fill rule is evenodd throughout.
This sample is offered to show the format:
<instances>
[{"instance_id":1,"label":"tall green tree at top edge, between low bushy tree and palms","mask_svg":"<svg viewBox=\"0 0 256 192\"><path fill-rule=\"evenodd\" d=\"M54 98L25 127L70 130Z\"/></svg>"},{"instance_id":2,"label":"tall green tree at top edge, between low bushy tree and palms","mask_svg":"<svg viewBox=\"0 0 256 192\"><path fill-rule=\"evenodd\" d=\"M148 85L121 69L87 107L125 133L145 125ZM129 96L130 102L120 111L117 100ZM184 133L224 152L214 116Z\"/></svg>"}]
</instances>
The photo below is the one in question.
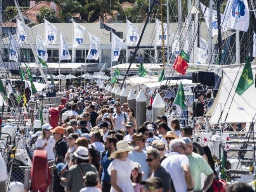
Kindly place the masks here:
<instances>
[{"instance_id":1,"label":"tall green tree at top edge, between low bushy tree and palms","mask_svg":"<svg viewBox=\"0 0 256 192\"><path fill-rule=\"evenodd\" d=\"M80 2L76 0L54 0L54 3L59 6L59 18L62 22L68 22L74 13L85 11Z\"/></svg>"}]
</instances>

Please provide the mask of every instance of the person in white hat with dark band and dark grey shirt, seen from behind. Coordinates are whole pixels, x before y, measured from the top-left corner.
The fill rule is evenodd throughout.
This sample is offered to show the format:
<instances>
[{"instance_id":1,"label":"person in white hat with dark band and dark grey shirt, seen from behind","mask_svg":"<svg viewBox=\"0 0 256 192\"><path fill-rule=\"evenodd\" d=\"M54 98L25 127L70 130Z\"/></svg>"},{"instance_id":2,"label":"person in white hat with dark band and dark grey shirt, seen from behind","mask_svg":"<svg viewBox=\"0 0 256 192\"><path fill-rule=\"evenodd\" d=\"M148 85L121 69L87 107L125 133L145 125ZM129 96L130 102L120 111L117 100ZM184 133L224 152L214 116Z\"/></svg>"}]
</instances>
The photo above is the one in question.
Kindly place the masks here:
<instances>
[{"instance_id":1,"label":"person in white hat with dark band and dark grey shirt, seen from behind","mask_svg":"<svg viewBox=\"0 0 256 192\"><path fill-rule=\"evenodd\" d=\"M66 178L66 182L61 183L62 186L66 187L66 191L70 192L78 192L84 187L83 176L88 171L95 172L99 178L97 168L89 163L89 151L86 147L79 146L74 152L74 156L76 157L76 164L64 173L63 177Z\"/></svg>"}]
</instances>

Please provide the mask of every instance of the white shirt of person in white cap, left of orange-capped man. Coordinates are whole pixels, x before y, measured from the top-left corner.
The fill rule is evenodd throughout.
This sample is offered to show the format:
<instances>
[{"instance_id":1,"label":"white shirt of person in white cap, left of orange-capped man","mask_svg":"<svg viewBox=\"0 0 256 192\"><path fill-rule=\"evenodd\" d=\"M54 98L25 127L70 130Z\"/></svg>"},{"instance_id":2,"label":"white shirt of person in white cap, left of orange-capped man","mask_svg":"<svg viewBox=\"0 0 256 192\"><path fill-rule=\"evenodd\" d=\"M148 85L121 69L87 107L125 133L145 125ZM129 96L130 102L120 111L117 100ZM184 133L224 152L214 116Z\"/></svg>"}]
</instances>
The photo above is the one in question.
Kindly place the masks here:
<instances>
[{"instance_id":1,"label":"white shirt of person in white cap, left of orange-capped man","mask_svg":"<svg viewBox=\"0 0 256 192\"><path fill-rule=\"evenodd\" d=\"M42 147L45 142L48 142L48 145L45 146L43 149L47 151L47 159L55 159L54 155L54 147L55 147L55 140L54 137L50 136L47 140L46 138L43 138L42 136L38 137L36 140L36 148Z\"/></svg>"}]
</instances>

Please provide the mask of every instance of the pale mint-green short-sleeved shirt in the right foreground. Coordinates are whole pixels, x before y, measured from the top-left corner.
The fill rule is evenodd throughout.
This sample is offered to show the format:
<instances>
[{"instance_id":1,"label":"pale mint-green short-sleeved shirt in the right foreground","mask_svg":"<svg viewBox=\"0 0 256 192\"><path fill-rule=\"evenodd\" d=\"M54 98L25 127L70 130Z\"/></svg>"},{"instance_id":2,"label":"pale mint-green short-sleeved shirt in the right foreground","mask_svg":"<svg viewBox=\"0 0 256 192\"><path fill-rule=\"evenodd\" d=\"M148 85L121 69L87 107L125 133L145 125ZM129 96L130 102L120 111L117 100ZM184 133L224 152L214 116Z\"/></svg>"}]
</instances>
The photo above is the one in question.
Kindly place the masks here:
<instances>
[{"instance_id":1,"label":"pale mint-green short-sleeved shirt in the right foreground","mask_svg":"<svg viewBox=\"0 0 256 192\"><path fill-rule=\"evenodd\" d=\"M213 173L213 170L201 155L194 152L189 156L189 165L192 177L194 178L194 190L202 190L204 186L201 183L201 173L208 176Z\"/></svg>"}]
</instances>

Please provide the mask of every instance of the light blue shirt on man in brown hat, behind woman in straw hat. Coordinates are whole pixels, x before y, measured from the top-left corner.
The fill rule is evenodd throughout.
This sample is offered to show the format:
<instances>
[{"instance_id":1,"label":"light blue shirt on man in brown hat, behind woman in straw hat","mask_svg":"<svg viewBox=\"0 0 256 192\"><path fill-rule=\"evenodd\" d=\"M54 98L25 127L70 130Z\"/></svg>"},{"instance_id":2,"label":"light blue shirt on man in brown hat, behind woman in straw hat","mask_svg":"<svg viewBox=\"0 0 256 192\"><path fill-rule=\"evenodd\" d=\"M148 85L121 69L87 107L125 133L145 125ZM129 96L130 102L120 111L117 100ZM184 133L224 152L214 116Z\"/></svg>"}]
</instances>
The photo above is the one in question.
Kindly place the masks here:
<instances>
[{"instance_id":1,"label":"light blue shirt on man in brown hat, behind woman in straw hat","mask_svg":"<svg viewBox=\"0 0 256 192\"><path fill-rule=\"evenodd\" d=\"M141 153L133 150L129 152L129 158L133 162L137 162L140 164L140 170L144 172L144 175L142 176L142 180L146 180L149 178L149 165L147 164L147 154L145 150L142 150Z\"/></svg>"}]
</instances>

